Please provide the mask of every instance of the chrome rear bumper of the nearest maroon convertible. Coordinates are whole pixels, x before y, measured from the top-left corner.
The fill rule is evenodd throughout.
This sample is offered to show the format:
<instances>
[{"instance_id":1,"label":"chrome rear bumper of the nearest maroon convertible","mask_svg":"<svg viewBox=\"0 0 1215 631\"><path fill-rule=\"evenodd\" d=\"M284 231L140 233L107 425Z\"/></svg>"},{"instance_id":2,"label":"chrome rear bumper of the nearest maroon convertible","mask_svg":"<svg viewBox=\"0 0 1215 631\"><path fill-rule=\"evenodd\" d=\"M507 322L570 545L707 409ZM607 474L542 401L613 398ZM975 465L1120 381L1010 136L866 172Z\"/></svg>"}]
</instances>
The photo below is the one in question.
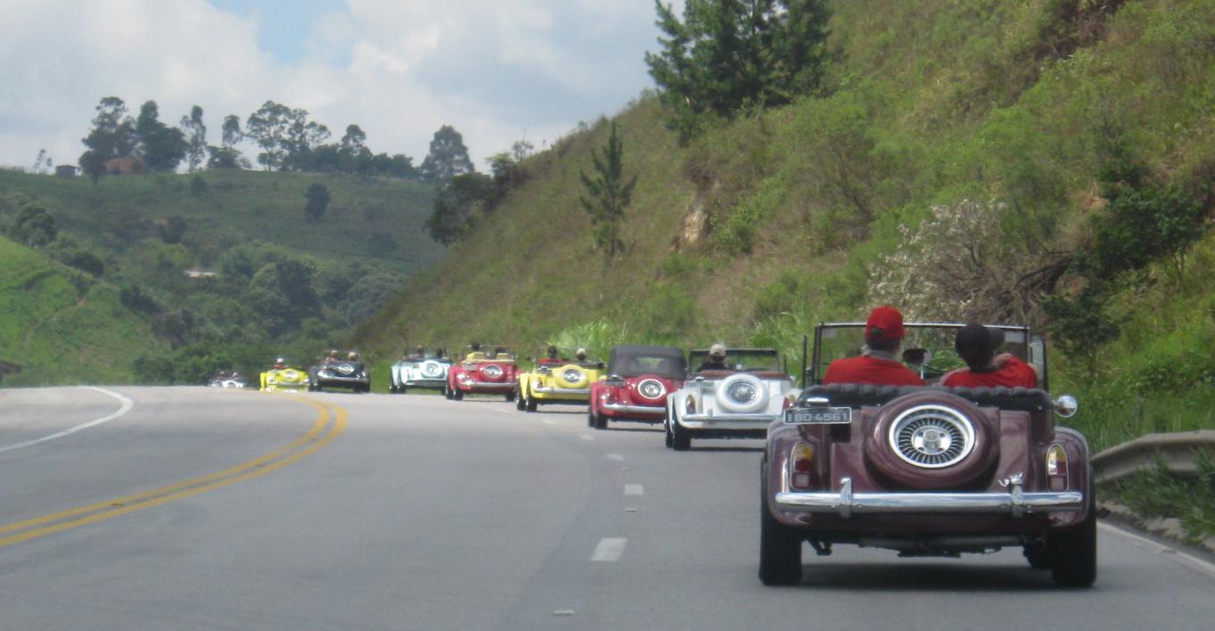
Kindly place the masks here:
<instances>
[{"instance_id":1,"label":"chrome rear bumper of the nearest maroon convertible","mask_svg":"<svg viewBox=\"0 0 1215 631\"><path fill-rule=\"evenodd\" d=\"M841 480L840 492L786 491L776 494L784 511L806 513L1027 513L1083 511L1080 491L1024 492L1013 485L1010 492L853 492L852 478Z\"/></svg>"}]
</instances>

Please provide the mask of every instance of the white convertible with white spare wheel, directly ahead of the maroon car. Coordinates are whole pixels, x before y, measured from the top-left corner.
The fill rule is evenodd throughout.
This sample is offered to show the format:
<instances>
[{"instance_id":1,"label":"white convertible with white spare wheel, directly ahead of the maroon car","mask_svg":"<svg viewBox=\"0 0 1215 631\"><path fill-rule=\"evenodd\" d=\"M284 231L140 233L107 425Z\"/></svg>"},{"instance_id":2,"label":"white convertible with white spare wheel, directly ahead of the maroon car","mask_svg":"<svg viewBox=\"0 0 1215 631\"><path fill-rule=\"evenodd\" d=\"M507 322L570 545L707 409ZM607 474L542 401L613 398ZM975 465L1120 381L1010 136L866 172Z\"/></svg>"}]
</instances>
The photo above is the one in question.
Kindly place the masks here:
<instances>
[{"instance_id":1,"label":"white convertible with white spare wheel, directly ahead of the maroon car","mask_svg":"<svg viewBox=\"0 0 1215 631\"><path fill-rule=\"evenodd\" d=\"M701 366L707 350L693 350L688 366ZM667 398L667 446L685 450L693 438L764 438L799 390L775 349L731 349L724 370L701 370Z\"/></svg>"}]
</instances>

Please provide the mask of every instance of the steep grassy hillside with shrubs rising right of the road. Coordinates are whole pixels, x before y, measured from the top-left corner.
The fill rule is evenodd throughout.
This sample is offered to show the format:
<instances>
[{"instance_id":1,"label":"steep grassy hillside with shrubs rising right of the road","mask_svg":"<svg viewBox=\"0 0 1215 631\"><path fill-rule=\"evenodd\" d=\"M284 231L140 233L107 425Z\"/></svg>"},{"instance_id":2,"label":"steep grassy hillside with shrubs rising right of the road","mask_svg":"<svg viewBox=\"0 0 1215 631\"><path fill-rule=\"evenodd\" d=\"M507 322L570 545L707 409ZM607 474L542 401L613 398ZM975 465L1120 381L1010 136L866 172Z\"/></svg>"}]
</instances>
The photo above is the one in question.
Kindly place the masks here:
<instances>
[{"instance_id":1,"label":"steep grassy hillside with shrubs rising right of the road","mask_svg":"<svg viewBox=\"0 0 1215 631\"><path fill-rule=\"evenodd\" d=\"M831 32L840 55L821 94L686 147L652 98L615 117L638 175L616 260L594 249L578 203L600 120L530 158L530 179L360 344L384 360L471 339L793 354L814 322L880 303L1045 329L1042 297L1083 286L1075 264L1112 213L1108 190L1130 186L1114 170L1143 174L1136 191L1177 187L1210 216L1215 1L841 1ZM1096 349L1096 373L1056 345L1055 389L1081 396L1075 421L1097 449L1215 427L1215 243L1196 230L1181 274L1162 260L1108 278L1118 336ZM1128 389L1143 370L1154 377Z\"/></svg>"}]
</instances>

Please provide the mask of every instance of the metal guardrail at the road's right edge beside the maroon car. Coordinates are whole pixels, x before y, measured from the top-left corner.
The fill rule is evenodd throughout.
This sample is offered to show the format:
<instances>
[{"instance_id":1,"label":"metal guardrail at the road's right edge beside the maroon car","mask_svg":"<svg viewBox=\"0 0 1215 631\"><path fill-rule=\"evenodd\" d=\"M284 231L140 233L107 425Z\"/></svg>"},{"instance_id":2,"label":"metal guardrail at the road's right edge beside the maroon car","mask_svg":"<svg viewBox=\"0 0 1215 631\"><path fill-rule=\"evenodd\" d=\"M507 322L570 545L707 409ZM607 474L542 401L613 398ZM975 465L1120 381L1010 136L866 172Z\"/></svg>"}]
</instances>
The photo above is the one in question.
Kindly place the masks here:
<instances>
[{"instance_id":1,"label":"metal guardrail at the road's right edge beside the maroon car","mask_svg":"<svg viewBox=\"0 0 1215 631\"><path fill-rule=\"evenodd\" d=\"M1147 434L1090 458L1097 483L1114 481L1155 466L1157 455L1172 473L1198 473L1196 451L1215 452L1215 430Z\"/></svg>"}]
</instances>

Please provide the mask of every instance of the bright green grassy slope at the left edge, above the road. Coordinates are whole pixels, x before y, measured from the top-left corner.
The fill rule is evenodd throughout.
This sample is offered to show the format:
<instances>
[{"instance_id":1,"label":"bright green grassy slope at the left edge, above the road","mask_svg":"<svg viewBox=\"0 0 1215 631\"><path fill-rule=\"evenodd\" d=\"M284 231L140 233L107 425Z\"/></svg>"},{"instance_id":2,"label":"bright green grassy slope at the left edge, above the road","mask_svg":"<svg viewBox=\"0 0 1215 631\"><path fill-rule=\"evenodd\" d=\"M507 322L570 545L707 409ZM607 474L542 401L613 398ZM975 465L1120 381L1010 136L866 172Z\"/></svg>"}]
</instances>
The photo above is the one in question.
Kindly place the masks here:
<instances>
[{"instance_id":1,"label":"bright green grassy slope at the left edge, above the road","mask_svg":"<svg viewBox=\"0 0 1215 631\"><path fill-rule=\"evenodd\" d=\"M165 344L118 289L0 237L0 360L5 385L131 383L132 350Z\"/></svg>"}]
</instances>

